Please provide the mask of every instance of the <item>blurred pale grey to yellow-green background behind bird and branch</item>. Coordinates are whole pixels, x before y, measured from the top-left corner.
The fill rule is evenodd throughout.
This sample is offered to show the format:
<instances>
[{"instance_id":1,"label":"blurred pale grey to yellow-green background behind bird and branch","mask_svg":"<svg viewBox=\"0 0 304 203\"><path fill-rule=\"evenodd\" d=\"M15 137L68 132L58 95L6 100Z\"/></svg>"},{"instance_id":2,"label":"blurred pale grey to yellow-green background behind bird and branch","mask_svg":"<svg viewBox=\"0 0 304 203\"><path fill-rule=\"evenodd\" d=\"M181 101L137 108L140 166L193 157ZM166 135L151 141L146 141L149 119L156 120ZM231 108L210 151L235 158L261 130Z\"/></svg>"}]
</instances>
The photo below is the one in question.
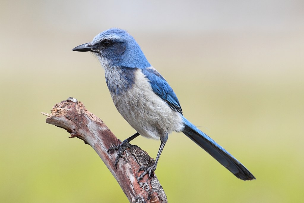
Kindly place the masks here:
<instances>
[{"instance_id":1,"label":"blurred pale grey to yellow-green background behind bird and branch","mask_svg":"<svg viewBox=\"0 0 304 203\"><path fill-rule=\"evenodd\" d=\"M303 1L0 2L0 201L128 202L95 151L45 123L72 96L124 140L104 70L72 48L128 30L178 95L185 117L257 178L234 177L172 133L156 175L169 202L304 198ZM156 157L159 141L132 141Z\"/></svg>"}]
</instances>

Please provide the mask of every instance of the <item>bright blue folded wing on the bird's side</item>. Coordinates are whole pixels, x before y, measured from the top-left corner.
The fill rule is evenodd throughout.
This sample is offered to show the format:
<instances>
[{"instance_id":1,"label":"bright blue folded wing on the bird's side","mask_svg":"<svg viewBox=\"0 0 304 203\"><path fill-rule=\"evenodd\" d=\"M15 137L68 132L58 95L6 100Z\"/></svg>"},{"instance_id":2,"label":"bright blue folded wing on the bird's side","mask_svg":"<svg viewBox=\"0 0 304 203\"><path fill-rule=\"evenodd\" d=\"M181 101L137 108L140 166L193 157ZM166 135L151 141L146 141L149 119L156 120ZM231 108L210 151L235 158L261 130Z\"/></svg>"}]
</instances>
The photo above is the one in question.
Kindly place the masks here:
<instances>
[{"instance_id":1,"label":"bright blue folded wing on the bird's side","mask_svg":"<svg viewBox=\"0 0 304 203\"><path fill-rule=\"evenodd\" d=\"M142 69L142 72L148 78L154 93L164 100L171 109L183 114L176 94L164 77L154 68L145 68Z\"/></svg>"}]
</instances>

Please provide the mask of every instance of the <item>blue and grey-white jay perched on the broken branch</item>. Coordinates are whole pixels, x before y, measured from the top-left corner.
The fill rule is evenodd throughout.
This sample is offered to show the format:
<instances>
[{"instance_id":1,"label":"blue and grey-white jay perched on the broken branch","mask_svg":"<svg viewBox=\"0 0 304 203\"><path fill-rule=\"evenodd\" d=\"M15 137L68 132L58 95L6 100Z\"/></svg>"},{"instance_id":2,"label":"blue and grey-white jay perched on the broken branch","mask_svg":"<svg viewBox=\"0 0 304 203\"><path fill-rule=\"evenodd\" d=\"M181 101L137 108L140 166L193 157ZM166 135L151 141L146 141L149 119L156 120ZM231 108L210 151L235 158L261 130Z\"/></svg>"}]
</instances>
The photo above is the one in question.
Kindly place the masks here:
<instances>
[{"instance_id":1,"label":"blue and grey-white jay perched on the broken branch","mask_svg":"<svg viewBox=\"0 0 304 203\"><path fill-rule=\"evenodd\" d=\"M153 178L157 162L168 140L168 135L182 132L198 144L226 169L241 180L256 179L252 173L228 151L213 141L183 116L181 105L167 80L148 62L136 40L126 31L110 28L96 35L91 42L72 49L92 52L105 70L105 81L118 112L136 133L121 144L109 148L117 150L115 166L123 151L134 147L134 138L143 137L161 141L156 159L151 159L138 181L148 174Z\"/></svg>"}]
</instances>

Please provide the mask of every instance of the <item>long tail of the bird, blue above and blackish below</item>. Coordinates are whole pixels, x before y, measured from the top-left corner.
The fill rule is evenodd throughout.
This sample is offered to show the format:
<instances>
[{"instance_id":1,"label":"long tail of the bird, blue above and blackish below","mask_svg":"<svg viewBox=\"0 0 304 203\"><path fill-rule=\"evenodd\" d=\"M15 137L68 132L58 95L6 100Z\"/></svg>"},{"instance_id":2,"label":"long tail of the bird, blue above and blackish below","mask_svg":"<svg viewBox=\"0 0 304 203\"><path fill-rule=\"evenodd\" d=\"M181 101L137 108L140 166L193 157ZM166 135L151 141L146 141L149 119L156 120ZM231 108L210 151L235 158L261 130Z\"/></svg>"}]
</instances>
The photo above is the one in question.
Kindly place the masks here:
<instances>
[{"instance_id":1,"label":"long tail of the bird, blue above and blackish below","mask_svg":"<svg viewBox=\"0 0 304 203\"><path fill-rule=\"evenodd\" d=\"M201 148L207 151L220 164L226 167L231 173L242 180L253 180L255 177L243 166L236 158L228 151L213 141L208 135L200 131L185 117L183 117L185 128L182 132L187 135L192 141L198 144Z\"/></svg>"}]
</instances>

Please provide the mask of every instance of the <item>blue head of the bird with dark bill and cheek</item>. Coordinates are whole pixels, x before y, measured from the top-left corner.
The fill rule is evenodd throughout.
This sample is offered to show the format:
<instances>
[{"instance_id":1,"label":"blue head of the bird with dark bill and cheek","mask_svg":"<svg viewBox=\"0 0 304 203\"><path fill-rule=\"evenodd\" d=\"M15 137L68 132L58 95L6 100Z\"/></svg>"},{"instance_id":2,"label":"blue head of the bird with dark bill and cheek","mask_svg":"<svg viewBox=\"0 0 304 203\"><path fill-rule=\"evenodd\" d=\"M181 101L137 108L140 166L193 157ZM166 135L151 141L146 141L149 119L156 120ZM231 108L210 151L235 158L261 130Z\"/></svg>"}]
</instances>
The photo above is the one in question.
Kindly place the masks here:
<instances>
[{"instance_id":1,"label":"blue head of the bird with dark bill and cheek","mask_svg":"<svg viewBox=\"0 0 304 203\"><path fill-rule=\"evenodd\" d=\"M135 39L126 30L118 28L103 31L91 42L79 45L73 51L93 52L104 67L146 68L151 66Z\"/></svg>"}]
</instances>

